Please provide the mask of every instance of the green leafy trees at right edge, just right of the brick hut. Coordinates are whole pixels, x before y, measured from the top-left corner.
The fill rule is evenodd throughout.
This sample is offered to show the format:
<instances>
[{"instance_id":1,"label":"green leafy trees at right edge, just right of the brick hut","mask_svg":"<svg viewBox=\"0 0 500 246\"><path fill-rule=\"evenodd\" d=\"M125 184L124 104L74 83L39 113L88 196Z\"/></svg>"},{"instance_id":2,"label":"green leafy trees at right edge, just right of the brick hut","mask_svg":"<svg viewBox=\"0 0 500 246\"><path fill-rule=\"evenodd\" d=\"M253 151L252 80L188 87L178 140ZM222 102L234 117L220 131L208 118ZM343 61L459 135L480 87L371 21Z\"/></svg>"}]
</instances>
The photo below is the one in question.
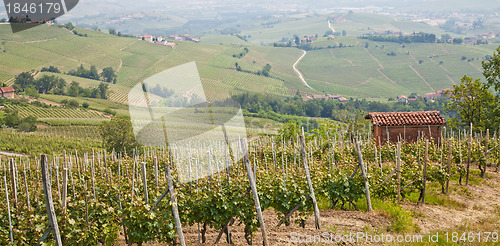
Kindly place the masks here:
<instances>
[{"instance_id":1,"label":"green leafy trees at right edge, just right of the brick hut","mask_svg":"<svg viewBox=\"0 0 500 246\"><path fill-rule=\"evenodd\" d=\"M458 117L448 124L453 127L470 127L474 130L498 129L500 126L500 47L490 59L482 62L486 82L464 76L459 85L448 91L446 110ZM495 91L491 93L490 89Z\"/></svg>"}]
</instances>

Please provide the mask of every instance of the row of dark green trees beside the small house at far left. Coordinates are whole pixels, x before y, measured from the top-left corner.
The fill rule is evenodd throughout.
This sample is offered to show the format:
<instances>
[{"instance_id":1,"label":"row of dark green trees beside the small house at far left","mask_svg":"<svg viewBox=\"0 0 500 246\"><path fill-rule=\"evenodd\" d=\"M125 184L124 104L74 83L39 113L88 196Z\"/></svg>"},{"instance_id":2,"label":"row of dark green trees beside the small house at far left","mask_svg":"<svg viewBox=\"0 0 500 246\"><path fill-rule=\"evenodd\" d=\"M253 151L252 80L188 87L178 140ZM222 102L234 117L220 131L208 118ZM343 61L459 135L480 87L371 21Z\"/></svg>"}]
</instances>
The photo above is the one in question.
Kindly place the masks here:
<instances>
[{"instance_id":1,"label":"row of dark green trees beside the small house at far left","mask_svg":"<svg viewBox=\"0 0 500 246\"><path fill-rule=\"evenodd\" d=\"M17 75L14 87L16 91L24 91L27 96L35 98L39 96L39 93L43 93L107 99L108 94L108 84L106 83L101 82L98 87L94 88L83 88L78 82L73 81L68 87L63 78L45 74L35 79L30 72Z\"/></svg>"}]
</instances>

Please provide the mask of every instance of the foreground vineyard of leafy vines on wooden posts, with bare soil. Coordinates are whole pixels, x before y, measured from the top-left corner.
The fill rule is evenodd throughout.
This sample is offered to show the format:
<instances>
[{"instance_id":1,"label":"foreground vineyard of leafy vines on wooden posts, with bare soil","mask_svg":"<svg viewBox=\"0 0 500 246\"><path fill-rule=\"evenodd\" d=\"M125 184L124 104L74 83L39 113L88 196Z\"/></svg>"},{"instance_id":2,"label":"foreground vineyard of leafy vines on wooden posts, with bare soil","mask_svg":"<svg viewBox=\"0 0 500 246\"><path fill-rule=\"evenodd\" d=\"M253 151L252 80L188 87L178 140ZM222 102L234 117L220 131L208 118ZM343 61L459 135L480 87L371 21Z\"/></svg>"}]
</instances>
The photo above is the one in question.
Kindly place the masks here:
<instances>
[{"instance_id":1,"label":"foreground vineyard of leafy vines on wooden posts, with bare soil","mask_svg":"<svg viewBox=\"0 0 500 246\"><path fill-rule=\"evenodd\" d=\"M41 132L31 137L38 147L43 144L37 141L43 139L64 147L55 139L78 138L68 136L68 131L85 135L92 129L59 128L50 136ZM49 186L64 244L165 245L179 242L182 230L188 244L260 245L262 225L270 245L299 244L292 232L327 232L334 238L349 233L422 235L419 242L425 243L436 233L440 242L470 242L470 238L460 241L460 236L452 239L452 233L474 231L491 232L488 239L474 235L476 242L498 242L498 152L488 155L486 162L476 158L487 148L498 148L498 139L478 138L467 145L466 136L457 135L441 147L421 140L381 148L363 140L358 149L342 140L342 134L328 135L307 136L303 147L294 137L290 142L258 138L248 153L243 148L244 158L239 151L224 154L221 149L189 155L185 155L189 150L175 146L169 152L142 148L105 153L75 145L79 150L66 148L49 156L30 152L28 157L5 159L0 203L8 209L0 212L6 221L0 225L0 241L33 244L42 237L49 224L42 187ZM9 140L24 137L11 134ZM465 160L468 146L470 174ZM224 169L228 162L231 167ZM477 163L487 169L484 178L479 177ZM201 176L217 169L211 176ZM42 178L43 170L50 178ZM179 182L186 178L192 181ZM253 180L258 194L249 188ZM175 189L176 203L169 202L170 196L159 199L169 187ZM263 220L255 210L256 195ZM174 204L180 224L172 213ZM45 240L53 243L53 238Z\"/></svg>"}]
</instances>

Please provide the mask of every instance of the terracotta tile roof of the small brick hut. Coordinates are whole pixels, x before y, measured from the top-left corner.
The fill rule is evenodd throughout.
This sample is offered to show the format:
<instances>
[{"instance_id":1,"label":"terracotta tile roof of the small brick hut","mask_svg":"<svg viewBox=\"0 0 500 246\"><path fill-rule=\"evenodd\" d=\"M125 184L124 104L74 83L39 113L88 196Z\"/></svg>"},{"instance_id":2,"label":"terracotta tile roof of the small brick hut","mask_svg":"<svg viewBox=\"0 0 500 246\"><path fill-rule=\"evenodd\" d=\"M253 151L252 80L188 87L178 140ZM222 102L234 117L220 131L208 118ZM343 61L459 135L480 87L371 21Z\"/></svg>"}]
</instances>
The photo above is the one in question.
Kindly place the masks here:
<instances>
[{"instance_id":1,"label":"terracotta tile roof of the small brick hut","mask_svg":"<svg viewBox=\"0 0 500 246\"><path fill-rule=\"evenodd\" d=\"M365 119L370 119L375 126L446 124L444 117L439 111L369 113L365 116Z\"/></svg>"}]
</instances>

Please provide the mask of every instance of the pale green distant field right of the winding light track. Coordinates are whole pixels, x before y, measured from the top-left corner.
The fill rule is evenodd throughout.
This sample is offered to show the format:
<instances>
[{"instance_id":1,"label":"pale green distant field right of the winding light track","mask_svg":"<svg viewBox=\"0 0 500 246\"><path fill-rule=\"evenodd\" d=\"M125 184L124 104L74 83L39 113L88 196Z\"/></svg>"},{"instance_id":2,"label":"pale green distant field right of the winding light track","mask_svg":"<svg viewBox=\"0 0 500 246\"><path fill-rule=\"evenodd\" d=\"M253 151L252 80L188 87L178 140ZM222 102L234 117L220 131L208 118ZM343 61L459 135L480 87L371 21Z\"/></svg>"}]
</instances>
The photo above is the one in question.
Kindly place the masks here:
<instances>
[{"instance_id":1,"label":"pale green distant field right of the winding light track","mask_svg":"<svg viewBox=\"0 0 500 246\"><path fill-rule=\"evenodd\" d=\"M342 42L343 38L335 41ZM358 41L353 47L309 51L298 68L313 88L330 94L422 95L450 88L460 83L465 74L482 78L481 61L497 47L422 43L403 47L397 43ZM462 56L467 60L462 60Z\"/></svg>"}]
</instances>

